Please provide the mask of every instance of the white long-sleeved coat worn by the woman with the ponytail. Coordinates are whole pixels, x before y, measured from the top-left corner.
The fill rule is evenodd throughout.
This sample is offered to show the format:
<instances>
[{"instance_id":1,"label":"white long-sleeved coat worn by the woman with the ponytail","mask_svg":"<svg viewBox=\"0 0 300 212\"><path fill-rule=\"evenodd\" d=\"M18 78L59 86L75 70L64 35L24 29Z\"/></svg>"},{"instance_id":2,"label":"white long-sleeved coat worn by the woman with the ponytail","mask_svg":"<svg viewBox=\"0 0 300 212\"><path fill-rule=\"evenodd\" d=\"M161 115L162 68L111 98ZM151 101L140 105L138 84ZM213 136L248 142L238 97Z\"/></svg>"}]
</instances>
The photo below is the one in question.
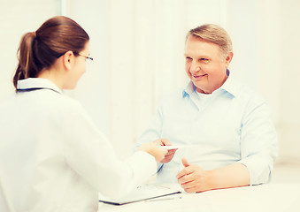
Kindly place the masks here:
<instances>
[{"instance_id":1,"label":"white long-sleeved coat worn by the woman with the ponytail","mask_svg":"<svg viewBox=\"0 0 300 212\"><path fill-rule=\"evenodd\" d=\"M145 152L119 161L81 104L50 80L19 80L18 91L0 103L0 203L6 208L95 212L99 192L118 197L155 174L157 163Z\"/></svg>"}]
</instances>

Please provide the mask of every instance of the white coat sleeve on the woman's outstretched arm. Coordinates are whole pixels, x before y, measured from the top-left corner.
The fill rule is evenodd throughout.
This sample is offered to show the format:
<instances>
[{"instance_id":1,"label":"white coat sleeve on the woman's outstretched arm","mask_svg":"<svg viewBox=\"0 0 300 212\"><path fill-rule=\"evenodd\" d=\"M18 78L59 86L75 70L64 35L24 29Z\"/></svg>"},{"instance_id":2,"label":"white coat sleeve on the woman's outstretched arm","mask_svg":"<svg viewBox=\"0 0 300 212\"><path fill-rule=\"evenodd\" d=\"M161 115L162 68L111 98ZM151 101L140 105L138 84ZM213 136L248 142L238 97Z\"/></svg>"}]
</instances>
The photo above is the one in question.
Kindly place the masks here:
<instances>
[{"instance_id":1,"label":"white coat sleeve on the woman's outstretched arm","mask_svg":"<svg viewBox=\"0 0 300 212\"><path fill-rule=\"evenodd\" d=\"M121 162L79 103L65 112L65 161L98 192L118 198L156 172L155 158L142 151Z\"/></svg>"}]
</instances>

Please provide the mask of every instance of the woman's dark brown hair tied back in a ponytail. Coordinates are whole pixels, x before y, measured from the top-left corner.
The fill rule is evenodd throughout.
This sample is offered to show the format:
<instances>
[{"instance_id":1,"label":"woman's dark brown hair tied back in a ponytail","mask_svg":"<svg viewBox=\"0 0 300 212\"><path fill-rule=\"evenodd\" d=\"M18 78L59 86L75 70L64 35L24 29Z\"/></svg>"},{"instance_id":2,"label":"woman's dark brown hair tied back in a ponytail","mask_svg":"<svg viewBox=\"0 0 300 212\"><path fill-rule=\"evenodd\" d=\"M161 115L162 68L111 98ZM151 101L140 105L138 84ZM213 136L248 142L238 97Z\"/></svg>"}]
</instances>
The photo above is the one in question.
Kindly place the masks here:
<instances>
[{"instance_id":1,"label":"woman's dark brown hair tied back in a ponytail","mask_svg":"<svg viewBox=\"0 0 300 212\"><path fill-rule=\"evenodd\" d=\"M69 50L79 56L88 41L86 31L73 19L57 16L46 20L35 32L21 38L14 87L17 89L19 79L36 78Z\"/></svg>"}]
</instances>

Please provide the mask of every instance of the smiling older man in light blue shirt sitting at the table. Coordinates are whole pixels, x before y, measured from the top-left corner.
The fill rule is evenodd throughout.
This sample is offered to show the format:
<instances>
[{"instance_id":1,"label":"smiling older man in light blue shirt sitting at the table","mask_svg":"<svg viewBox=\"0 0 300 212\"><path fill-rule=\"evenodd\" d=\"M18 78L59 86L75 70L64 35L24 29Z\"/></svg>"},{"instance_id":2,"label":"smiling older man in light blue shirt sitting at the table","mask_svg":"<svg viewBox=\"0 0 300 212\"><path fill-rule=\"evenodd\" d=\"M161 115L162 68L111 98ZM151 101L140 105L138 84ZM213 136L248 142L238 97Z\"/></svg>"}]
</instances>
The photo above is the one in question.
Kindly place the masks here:
<instances>
[{"instance_id":1,"label":"smiling older man in light blue shirt sitting at the table","mask_svg":"<svg viewBox=\"0 0 300 212\"><path fill-rule=\"evenodd\" d=\"M188 193L267 183L277 136L267 103L229 72L229 35L216 25L191 29L184 56L187 87L159 104L137 144L181 145L160 163L157 182L177 181Z\"/></svg>"}]
</instances>

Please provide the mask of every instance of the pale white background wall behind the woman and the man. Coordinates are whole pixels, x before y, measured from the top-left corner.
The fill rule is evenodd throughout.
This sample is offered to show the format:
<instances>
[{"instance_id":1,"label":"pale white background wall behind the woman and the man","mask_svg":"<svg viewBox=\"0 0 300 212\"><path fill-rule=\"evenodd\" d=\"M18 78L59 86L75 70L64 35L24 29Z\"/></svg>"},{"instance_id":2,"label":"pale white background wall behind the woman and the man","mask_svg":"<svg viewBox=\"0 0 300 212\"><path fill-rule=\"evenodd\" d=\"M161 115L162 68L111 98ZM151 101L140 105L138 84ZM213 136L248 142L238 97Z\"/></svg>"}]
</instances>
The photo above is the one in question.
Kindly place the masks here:
<instances>
[{"instance_id":1,"label":"pale white background wall behind the woman and the man","mask_svg":"<svg viewBox=\"0 0 300 212\"><path fill-rule=\"evenodd\" d=\"M21 34L61 9L88 31L95 57L78 87L66 94L82 102L121 157L131 153L158 101L187 82L183 48L188 29L215 23L232 37L231 71L273 109L279 161L300 162L299 1L0 0L0 100L12 92Z\"/></svg>"}]
</instances>

